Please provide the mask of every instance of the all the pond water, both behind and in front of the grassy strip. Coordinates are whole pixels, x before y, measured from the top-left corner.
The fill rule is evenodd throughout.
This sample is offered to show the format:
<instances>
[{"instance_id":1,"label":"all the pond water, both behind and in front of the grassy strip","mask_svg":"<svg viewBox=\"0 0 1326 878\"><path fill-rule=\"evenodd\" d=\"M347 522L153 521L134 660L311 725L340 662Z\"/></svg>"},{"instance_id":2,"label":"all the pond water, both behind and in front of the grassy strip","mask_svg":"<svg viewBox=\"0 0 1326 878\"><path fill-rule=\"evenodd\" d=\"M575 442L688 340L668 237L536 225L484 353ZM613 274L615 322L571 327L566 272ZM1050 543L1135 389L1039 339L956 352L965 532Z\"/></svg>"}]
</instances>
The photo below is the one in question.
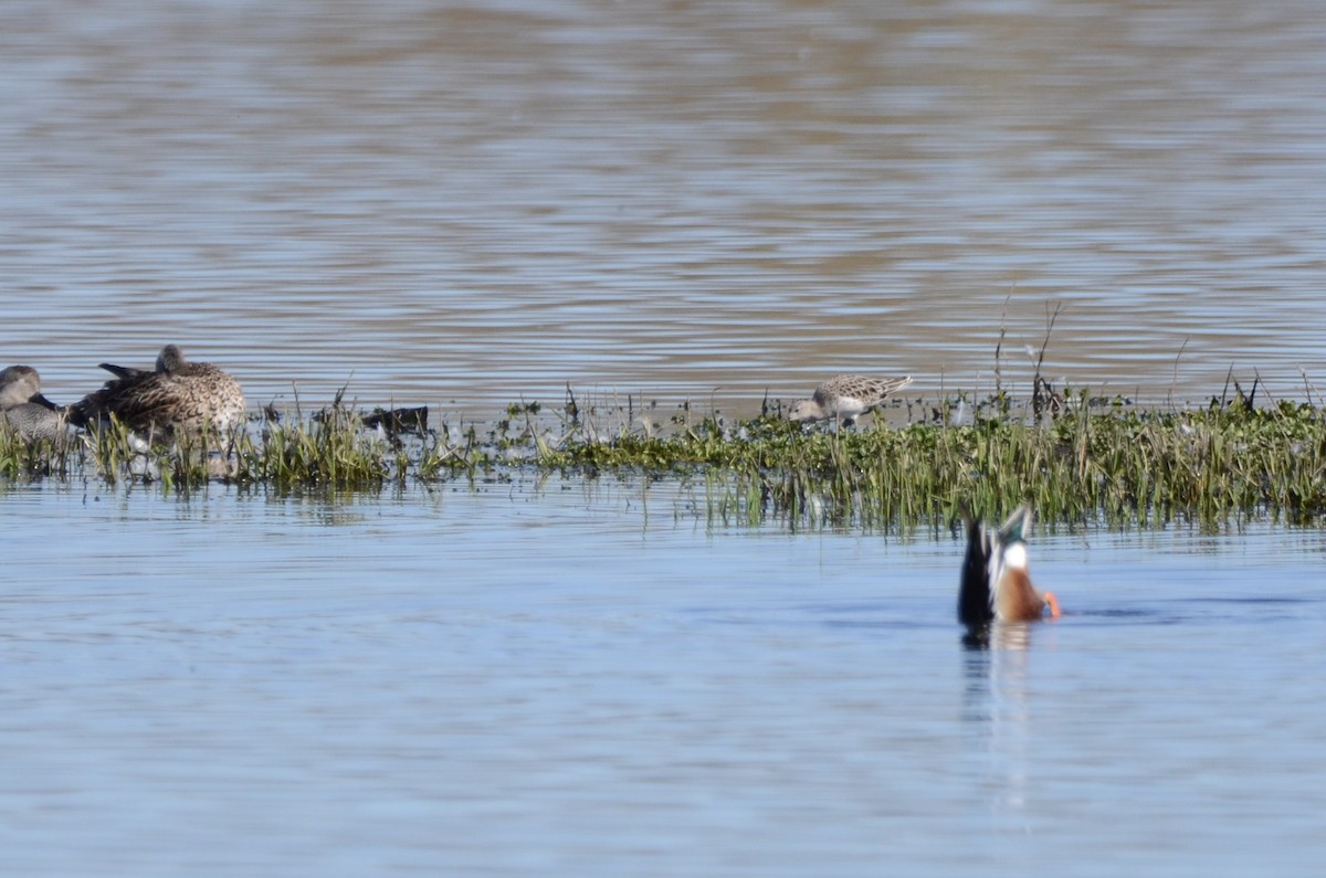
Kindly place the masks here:
<instances>
[{"instance_id":1,"label":"all the pond water, both behind and in front of the grassy strip","mask_svg":"<svg viewBox=\"0 0 1326 878\"><path fill-rule=\"evenodd\" d=\"M829 374L1319 402L1317 4L7 4L3 362L255 407ZM1262 399L1265 397L1261 397ZM0 485L24 875L1315 875L1317 532L945 534L675 483Z\"/></svg>"}]
</instances>

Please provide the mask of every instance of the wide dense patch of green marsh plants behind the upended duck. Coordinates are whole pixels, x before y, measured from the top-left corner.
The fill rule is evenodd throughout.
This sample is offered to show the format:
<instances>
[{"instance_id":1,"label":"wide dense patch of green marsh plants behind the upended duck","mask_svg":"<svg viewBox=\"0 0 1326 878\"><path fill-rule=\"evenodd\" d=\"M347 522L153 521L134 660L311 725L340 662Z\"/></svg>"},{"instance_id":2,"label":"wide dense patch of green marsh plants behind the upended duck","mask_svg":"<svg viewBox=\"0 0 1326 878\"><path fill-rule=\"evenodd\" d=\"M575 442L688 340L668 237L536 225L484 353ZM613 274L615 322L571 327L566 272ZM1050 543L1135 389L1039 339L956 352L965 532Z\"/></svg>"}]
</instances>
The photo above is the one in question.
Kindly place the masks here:
<instances>
[{"instance_id":1,"label":"wide dense patch of green marsh plants behind the upended duck","mask_svg":"<svg viewBox=\"0 0 1326 878\"><path fill-rule=\"evenodd\" d=\"M573 442L541 464L715 468L725 479L709 508L724 520L774 516L789 527L934 524L956 520L964 504L997 516L1024 501L1069 527L1326 515L1326 420L1311 406L1143 411L1078 394L1037 423L1002 395L988 402L964 426L941 416L834 434L772 418L736 428L711 420L667 438Z\"/></svg>"}]
</instances>

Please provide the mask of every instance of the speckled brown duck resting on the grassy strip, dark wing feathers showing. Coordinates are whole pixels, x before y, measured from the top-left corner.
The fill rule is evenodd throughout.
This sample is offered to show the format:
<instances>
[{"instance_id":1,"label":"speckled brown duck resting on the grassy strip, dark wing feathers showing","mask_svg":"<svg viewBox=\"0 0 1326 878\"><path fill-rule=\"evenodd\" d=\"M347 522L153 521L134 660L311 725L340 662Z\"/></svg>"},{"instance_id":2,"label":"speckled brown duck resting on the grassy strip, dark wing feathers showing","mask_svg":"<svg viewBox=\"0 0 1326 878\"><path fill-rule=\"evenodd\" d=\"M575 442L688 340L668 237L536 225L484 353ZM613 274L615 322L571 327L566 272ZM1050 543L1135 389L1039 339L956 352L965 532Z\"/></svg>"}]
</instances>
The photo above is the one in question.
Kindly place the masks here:
<instances>
[{"instance_id":1,"label":"speckled brown duck resting on the grassy strip, dark wing feathers showing","mask_svg":"<svg viewBox=\"0 0 1326 878\"><path fill-rule=\"evenodd\" d=\"M244 423L240 382L212 363L190 362L175 345L162 347L152 370L111 363L101 369L115 377L70 406L78 426L114 416L139 432L199 435L204 428L225 432Z\"/></svg>"}]
</instances>

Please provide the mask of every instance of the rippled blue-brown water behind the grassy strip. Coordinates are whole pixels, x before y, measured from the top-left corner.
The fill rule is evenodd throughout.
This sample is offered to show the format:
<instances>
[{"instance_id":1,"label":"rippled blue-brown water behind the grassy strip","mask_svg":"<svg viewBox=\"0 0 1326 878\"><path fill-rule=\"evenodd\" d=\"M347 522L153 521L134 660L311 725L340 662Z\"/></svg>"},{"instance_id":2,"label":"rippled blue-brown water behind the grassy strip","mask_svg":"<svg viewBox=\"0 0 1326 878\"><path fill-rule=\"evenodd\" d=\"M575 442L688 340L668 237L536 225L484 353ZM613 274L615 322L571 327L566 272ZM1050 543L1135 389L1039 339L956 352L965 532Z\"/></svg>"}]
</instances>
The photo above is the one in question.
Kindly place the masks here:
<instances>
[{"instance_id":1,"label":"rippled blue-brown water behind the grassy strip","mask_svg":"<svg viewBox=\"0 0 1326 878\"><path fill-rule=\"evenodd\" d=\"M752 414L843 370L1319 381L1306 1L11 4L8 361ZM1315 391L1311 391L1315 393Z\"/></svg>"}]
</instances>

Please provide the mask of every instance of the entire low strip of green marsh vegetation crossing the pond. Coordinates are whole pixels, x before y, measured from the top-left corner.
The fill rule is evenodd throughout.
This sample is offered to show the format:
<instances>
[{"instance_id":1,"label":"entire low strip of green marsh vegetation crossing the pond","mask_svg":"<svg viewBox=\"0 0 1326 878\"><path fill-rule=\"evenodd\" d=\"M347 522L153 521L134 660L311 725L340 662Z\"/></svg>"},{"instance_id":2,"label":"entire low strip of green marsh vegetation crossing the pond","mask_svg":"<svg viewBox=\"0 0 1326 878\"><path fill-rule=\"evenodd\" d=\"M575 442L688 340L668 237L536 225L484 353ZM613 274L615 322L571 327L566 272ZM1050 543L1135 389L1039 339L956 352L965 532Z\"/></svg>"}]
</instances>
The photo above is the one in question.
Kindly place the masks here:
<instances>
[{"instance_id":1,"label":"entire low strip of green marsh vegetation crossing the pond","mask_svg":"<svg viewBox=\"0 0 1326 878\"><path fill-rule=\"evenodd\" d=\"M114 424L66 443L25 444L0 432L0 476L130 479L176 491L217 480L371 491L521 472L674 476L703 483L700 515L792 528L947 527L963 505L997 516L1020 503L1067 527L1326 516L1326 411L1315 406L1257 407L1240 394L1205 407L1138 410L1041 391L1025 405L1002 394L926 408L911 401L923 420L895 428L880 418L842 432L808 430L774 410L732 423L683 411L666 428L633 411L605 428L574 399L557 410L512 405L485 428L430 430L426 410L365 415L335 406L308 420L268 412L247 430L170 447L149 447Z\"/></svg>"}]
</instances>

